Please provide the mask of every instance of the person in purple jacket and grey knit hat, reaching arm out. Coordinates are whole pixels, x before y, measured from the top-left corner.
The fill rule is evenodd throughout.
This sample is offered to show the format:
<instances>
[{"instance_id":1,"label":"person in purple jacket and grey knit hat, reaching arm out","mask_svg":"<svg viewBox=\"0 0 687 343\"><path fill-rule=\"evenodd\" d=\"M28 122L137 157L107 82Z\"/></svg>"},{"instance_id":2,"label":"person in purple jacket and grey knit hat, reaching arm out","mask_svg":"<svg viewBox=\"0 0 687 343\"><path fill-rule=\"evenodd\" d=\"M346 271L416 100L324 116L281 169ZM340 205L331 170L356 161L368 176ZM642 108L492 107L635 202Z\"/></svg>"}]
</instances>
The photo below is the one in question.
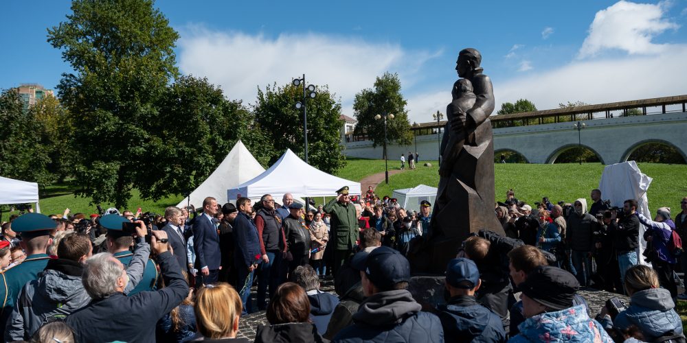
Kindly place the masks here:
<instances>
[{"instance_id":1,"label":"person in purple jacket and grey knit hat, reaching arm out","mask_svg":"<svg viewBox=\"0 0 687 343\"><path fill-rule=\"evenodd\" d=\"M673 270L677 259L673 252L668 250L668 241L673 236L675 223L671 220L671 209L661 207L656 211L654 220L644 217L642 213L636 213L640 223L647 228L644 231L644 239L647 242L644 255L646 260L651 262L651 267L658 274L658 281L661 287L671 292L671 297L677 297L677 285L673 279Z\"/></svg>"}]
</instances>

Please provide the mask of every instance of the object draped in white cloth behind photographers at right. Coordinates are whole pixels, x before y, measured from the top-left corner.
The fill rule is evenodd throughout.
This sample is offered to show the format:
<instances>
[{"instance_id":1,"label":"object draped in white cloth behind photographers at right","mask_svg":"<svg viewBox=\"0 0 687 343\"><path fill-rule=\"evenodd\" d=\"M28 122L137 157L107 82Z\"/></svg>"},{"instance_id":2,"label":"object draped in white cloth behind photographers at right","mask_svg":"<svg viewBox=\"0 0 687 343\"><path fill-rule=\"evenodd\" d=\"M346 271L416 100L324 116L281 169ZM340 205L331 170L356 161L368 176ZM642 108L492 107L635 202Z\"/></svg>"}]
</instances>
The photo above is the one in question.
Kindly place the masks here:
<instances>
[{"instance_id":1,"label":"object draped in white cloth behind photographers at right","mask_svg":"<svg viewBox=\"0 0 687 343\"><path fill-rule=\"evenodd\" d=\"M601 198L603 200L609 199L611 200L611 206L621 208L625 200L635 199L637 200L637 211L648 218L653 218L651 213L649 213L649 199L646 198L646 191L649 189L652 180L646 174L642 174L635 161L607 165L603 169L603 174L599 181ZM640 225L640 248L637 252L639 254L637 261L640 261L642 264L646 264L642 256L642 252L646 248L644 230L644 225Z\"/></svg>"}]
</instances>

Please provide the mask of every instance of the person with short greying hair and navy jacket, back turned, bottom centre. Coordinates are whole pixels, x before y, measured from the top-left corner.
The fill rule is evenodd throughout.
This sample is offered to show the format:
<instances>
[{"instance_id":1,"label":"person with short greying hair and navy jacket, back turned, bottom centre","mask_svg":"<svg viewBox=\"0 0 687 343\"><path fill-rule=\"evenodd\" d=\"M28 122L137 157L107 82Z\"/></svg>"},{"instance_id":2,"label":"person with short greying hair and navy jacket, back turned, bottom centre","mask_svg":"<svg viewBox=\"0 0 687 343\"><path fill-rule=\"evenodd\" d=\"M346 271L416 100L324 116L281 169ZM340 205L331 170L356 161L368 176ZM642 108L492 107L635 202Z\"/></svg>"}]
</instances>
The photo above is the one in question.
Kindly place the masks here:
<instances>
[{"instance_id":1,"label":"person with short greying hair and navy jacket, back turned, bottom centre","mask_svg":"<svg viewBox=\"0 0 687 343\"><path fill-rule=\"evenodd\" d=\"M299 265L293 271L293 282L305 289L310 300L310 317L317 327L317 333L324 335L334 309L339 305L339 298L334 294L319 290L319 277L311 265Z\"/></svg>"}]
</instances>

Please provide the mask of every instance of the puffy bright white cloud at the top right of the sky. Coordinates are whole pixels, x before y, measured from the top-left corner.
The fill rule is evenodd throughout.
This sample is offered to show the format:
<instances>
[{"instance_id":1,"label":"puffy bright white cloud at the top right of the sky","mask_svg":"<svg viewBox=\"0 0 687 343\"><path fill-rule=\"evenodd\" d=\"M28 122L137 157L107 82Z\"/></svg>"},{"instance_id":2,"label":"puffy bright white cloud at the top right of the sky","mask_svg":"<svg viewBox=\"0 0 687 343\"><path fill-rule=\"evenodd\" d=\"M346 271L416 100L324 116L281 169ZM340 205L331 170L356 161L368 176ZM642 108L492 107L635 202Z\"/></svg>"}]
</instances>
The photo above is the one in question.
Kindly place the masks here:
<instances>
[{"instance_id":1,"label":"puffy bright white cloud at the top right of the sky","mask_svg":"<svg viewBox=\"0 0 687 343\"><path fill-rule=\"evenodd\" d=\"M578 58L596 56L605 49L620 49L629 54L662 54L667 45L651 40L679 25L664 19L668 3L631 3L618 1L605 10L596 12L589 36L579 51Z\"/></svg>"}]
</instances>

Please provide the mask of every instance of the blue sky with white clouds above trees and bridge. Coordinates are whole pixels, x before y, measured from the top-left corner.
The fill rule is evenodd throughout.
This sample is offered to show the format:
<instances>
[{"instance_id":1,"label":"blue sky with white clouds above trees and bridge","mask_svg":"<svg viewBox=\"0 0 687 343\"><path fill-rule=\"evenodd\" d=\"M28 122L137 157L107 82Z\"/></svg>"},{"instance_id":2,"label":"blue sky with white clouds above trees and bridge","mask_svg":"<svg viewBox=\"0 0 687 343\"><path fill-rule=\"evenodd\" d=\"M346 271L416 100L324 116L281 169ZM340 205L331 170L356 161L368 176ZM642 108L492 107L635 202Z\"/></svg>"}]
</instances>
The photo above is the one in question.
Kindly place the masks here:
<instances>
[{"instance_id":1,"label":"blue sky with white clouds above trees and bridge","mask_svg":"<svg viewBox=\"0 0 687 343\"><path fill-rule=\"evenodd\" d=\"M443 112L455 56L482 51L497 104L539 109L687 93L687 0L629 1L158 1L181 35L182 73L205 76L231 99L306 73L352 116L355 93L398 73L411 121ZM67 1L0 3L0 88L54 87L69 71L46 42Z\"/></svg>"}]
</instances>

